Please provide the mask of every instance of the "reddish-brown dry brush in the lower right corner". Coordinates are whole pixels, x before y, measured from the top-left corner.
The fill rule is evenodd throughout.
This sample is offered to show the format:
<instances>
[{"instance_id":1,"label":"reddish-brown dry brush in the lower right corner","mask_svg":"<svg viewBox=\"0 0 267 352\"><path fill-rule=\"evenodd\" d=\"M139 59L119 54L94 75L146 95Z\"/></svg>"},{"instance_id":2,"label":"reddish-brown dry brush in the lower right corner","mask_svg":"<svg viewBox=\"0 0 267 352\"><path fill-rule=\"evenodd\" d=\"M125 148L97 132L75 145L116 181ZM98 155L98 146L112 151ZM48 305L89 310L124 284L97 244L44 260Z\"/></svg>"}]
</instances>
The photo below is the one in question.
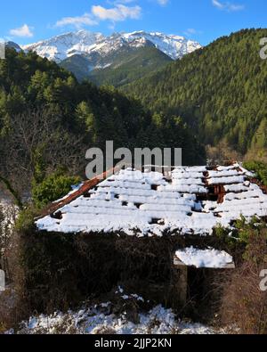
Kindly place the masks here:
<instances>
[{"instance_id":1,"label":"reddish-brown dry brush in the lower right corner","mask_svg":"<svg viewBox=\"0 0 267 352\"><path fill-rule=\"evenodd\" d=\"M267 229L247 230L243 263L223 280L223 323L236 323L247 334L267 333L267 291L260 289L260 273L267 269Z\"/></svg>"}]
</instances>

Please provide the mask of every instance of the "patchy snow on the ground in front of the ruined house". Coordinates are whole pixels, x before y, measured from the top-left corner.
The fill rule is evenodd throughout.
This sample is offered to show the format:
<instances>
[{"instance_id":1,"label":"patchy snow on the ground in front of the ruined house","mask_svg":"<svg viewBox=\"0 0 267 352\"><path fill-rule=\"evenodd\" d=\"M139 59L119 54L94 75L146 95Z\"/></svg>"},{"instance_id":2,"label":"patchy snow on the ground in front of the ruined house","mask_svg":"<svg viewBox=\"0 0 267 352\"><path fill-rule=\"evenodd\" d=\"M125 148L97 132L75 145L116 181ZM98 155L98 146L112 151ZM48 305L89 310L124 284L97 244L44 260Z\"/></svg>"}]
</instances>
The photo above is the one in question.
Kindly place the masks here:
<instances>
[{"instance_id":1,"label":"patchy snow on the ground in front of the ruined house","mask_svg":"<svg viewBox=\"0 0 267 352\"><path fill-rule=\"evenodd\" d=\"M223 334L200 323L178 320L171 309L154 307L149 313L139 314L139 323L130 322L125 315L102 313L109 302L100 307L85 308L67 314L39 315L21 323L17 332L7 334ZM107 310L107 309L106 309Z\"/></svg>"}]
</instances>

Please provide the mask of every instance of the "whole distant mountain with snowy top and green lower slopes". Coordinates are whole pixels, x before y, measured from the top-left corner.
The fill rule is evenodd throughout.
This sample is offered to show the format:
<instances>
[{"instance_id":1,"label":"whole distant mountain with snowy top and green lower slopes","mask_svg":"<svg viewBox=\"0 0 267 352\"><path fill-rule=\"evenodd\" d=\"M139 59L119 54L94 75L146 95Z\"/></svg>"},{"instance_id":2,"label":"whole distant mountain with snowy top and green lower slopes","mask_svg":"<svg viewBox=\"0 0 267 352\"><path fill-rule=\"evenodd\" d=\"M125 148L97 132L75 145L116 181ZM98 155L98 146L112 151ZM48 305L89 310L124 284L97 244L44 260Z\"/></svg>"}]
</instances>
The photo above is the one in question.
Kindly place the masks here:
<instances>
[{"instance_id":1,"label":"whole distant mountain with snowy top and green lower slopes","mask_svg":"<svg viewBox=\"0 0 267 352\"><path fill-rule=\"evenodd\" d=\"M200 47L185 37L160 32L139 30L106 37L85 29L22 45L24 51L36 52L70 70L79 81L93 79L97 85L113 86L131 83Z\"/></svg>"}]
</instances>

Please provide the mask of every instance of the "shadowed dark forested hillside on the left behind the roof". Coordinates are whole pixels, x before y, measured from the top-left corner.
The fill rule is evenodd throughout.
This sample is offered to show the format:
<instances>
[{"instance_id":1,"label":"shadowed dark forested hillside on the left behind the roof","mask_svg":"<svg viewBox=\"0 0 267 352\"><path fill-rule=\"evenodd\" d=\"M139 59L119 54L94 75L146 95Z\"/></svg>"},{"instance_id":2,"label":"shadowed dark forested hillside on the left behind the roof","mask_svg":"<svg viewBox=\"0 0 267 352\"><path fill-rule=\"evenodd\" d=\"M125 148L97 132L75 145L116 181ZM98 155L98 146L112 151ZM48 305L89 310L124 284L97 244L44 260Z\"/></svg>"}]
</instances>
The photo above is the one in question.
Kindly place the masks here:
<instances>
[{"instance_id":1,"label":"shadowed dark forested hillside on the left behind the roof","mask_svg":"<svg viewBox=\"0 0 267 352\"><path fill-rule=\"evenodd\" d=\"M183 162L205 151L179 118L144 111L112 87L79 84L36 53L7 49L0 60L0 184L17 195L59 168L85 177L85 151L117 147L183 147Z\"/></svg>"}]
</instances>

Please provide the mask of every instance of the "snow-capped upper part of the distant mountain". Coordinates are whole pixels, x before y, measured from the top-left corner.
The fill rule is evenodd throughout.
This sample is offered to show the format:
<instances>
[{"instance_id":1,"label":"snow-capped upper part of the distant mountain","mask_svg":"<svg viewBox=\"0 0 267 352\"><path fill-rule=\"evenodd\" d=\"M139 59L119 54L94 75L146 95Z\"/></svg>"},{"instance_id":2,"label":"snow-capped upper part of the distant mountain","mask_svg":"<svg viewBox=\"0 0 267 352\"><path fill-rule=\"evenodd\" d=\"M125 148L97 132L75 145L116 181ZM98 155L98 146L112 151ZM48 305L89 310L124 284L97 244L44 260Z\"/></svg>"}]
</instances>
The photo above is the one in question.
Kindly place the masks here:
<instances>
[{"instance_id":1,"label":"snow-capped upper part of the distant mountain","mask_svg":"<svg viewBox=\"0 0 267 352\"><path fill-rule=\"evenodd\" d=\"M23 45L22 49L35 51L49 60L61 62L75 54L88 55L92 53L101 56L108 55L122 46L142 47L155 45L158 50L166 53L173 60L182 58L201 47L197 42L175 35L165 35L159 32L114 33L109 37L101 33L89 32L85 29L52 37L50 39Z\"/></svg>"}]
</instances>

